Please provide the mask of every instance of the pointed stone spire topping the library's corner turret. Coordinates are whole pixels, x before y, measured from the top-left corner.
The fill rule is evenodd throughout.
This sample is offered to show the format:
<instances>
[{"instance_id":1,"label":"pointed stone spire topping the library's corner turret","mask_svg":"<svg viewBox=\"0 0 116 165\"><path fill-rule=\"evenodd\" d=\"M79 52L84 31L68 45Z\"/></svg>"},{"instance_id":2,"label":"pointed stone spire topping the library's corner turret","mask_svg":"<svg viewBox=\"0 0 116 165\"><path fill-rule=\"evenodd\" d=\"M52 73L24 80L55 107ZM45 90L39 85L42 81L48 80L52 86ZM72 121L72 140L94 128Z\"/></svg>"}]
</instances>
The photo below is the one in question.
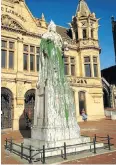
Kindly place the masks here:
<instances>
[{"instance_id":1,"label":"pointed stone spire topping the library's corner turret","mask_svg":"<svg viewBox=\"0 0 116 165\"><path fill-rule=\"evenodd\" d=\"M90 9L85 0L79 0L76 15L78 12L80 12L80 16L88 16L89 14L91 14Z\"/></svg>"}]
</instances>

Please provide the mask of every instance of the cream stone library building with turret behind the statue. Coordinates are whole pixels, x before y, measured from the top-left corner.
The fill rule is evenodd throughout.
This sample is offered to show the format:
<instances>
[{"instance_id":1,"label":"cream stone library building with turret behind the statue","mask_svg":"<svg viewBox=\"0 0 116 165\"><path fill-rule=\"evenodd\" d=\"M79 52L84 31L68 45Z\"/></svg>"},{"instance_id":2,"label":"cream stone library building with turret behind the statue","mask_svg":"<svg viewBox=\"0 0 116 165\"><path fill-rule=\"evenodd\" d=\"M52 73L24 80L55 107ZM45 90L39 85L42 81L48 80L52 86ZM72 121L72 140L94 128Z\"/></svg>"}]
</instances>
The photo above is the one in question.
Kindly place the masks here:
<instances>
[{"instance_id":1,"label":"cream stone library building with turret behind the statue","mask_svg":"<svg viewBox=\"0 0 116 165\"><path fill-rule=\"evenodd\" d=\"M24 0L2 0L1 12L2 129L18 130L25 127L25 111L33 116L39 45L47 23L43 14L35 18ZM104 117L98 20L81 0L70 28L57 26L67 45L65 74L74 91L78 121L83 108L88 120Z\"/></svg>"}]
</instances>

